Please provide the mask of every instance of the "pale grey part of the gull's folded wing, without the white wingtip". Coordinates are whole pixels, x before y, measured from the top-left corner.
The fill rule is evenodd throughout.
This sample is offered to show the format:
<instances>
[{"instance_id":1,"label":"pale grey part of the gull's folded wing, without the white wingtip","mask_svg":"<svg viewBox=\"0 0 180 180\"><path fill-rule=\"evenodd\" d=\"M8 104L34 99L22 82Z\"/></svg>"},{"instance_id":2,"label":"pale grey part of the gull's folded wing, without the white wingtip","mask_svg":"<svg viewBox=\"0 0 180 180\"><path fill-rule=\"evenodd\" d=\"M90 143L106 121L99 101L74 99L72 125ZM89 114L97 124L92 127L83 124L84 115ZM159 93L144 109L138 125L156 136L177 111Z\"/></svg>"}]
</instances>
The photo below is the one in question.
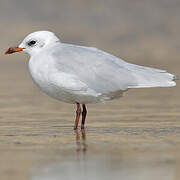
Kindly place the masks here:
<instances>
[{"instance_id":1,"label":"pale grey part of the gull's folded wing, without the white wingtip","mask_svg":"<svg viewBox=\"0 0 180 180\"><path fill-rule=\"evenodd\" d=\"M126 90L136 85L128 64L96 48L64 44L52 53L59 72L71 74L97 93Z\"/></svg>"}]
</instances>

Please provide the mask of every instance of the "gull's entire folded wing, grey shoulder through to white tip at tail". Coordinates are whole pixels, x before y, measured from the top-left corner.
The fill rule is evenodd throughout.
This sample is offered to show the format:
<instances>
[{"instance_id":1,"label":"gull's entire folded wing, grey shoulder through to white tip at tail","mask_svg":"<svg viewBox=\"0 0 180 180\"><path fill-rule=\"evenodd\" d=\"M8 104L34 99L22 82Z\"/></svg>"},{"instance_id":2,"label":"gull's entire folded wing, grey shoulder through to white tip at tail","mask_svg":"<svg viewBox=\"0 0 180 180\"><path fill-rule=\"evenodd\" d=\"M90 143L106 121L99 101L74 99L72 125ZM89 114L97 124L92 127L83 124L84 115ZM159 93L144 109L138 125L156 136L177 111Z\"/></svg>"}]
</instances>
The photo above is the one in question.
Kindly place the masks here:
<instances>
[{"instance_id":1,"label":"gull's entire folded wing, grey shoulder through to white tip at tail","mask_svg":"<svg viewBox=\"0 0 180 180\"><path fill-rule=\"evenodd\" d=\"M88 88L101 94L176 84L173 74L127 63L96 48L61 44L54 48L52 57L59 72L75 76Z\"/></svg>"}]
</instances>

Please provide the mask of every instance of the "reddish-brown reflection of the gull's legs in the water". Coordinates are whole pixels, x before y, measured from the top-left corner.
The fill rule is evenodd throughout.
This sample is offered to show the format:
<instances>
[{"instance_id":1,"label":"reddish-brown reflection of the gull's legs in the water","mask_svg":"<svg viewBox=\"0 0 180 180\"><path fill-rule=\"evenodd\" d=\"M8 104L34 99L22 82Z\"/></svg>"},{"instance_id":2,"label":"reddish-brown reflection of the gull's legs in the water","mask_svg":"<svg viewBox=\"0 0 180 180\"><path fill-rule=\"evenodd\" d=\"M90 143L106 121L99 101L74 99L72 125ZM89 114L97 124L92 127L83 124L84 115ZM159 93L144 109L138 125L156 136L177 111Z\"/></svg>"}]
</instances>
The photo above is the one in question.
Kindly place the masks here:
<instances>
[{"instance_id":1,"label":"reddish-brown reflection of the gull's legs in the water","mask_svg":"<svg viewBox=\"0 0 180 180\"><path fill-rule=\"evenodd\" d=\"M74 130L76 135L76 151L86 153L87 151L87 144L86 144L86 131L82 129L81 131Z\"/></svg>"}]
</instances>

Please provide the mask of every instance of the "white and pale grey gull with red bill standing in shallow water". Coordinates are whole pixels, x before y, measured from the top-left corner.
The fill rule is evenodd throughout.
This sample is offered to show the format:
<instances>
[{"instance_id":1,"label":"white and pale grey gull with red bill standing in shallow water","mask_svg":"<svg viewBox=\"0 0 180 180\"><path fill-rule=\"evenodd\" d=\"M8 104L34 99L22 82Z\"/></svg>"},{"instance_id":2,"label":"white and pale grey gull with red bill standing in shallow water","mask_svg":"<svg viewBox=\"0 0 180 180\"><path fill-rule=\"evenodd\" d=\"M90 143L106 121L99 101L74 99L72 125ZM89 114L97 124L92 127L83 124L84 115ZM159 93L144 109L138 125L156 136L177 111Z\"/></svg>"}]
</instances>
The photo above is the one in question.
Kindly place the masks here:
<instances>
[{"instance_id":1,"label":"white and pale grey gull with red bill standing in shallow water","mask_svg":"<svg viewBox=\"0 0 180 180\"><path fill-rule=\"evenodd\" d=\"M86 104L122 96L131 88L171 87L178 77L165 70L130 64L94 47L65 44L52 32L36 31L5 54L30 55L29 72L34 83L49 96L77 105L74 129Z\"/></svg>"}]
</instances>

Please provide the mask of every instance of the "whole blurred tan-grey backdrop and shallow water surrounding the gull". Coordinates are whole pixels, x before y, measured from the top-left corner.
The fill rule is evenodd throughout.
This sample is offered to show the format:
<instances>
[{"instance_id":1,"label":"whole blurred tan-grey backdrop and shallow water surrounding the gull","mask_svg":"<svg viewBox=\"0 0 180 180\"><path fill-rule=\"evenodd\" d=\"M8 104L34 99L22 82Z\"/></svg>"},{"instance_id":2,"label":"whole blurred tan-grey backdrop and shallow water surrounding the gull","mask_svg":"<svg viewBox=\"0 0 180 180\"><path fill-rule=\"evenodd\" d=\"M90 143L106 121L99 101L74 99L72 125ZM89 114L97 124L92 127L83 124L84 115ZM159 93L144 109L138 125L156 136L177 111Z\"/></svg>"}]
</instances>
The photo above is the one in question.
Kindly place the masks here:
<instances>
[{"instance_id":1,"label":"whole blurred tan-grey backdrop and shallow water surrounding the gull","mask_svg":"<svg viewBox=\"0 0 180 180\"><path fill-rule=\"evenodd\" d=\"M75 107L34 86L27 55L4 52L49 30L180 75L179 17L179 0L0 0L0 179L178 180L179 85L89 105L86 133L74 133Z\"/></svg>"}]
</instances>

